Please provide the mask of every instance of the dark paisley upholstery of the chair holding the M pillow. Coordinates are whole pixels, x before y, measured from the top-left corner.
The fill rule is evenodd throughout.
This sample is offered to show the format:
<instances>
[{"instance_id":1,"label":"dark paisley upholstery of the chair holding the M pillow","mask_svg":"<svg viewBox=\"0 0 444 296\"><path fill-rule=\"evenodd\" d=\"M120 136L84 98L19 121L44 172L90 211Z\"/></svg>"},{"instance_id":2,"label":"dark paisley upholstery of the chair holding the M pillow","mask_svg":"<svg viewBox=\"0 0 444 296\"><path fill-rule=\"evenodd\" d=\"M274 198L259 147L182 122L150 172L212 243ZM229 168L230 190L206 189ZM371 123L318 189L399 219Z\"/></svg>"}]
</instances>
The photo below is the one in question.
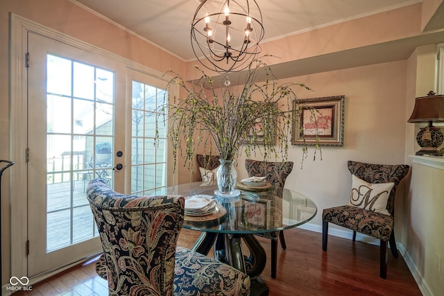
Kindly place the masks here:
<instances>
[{"instance_id":1,"label":"dark paisley upholstery of the chair holding the M pillow","mask_svg":"<svg viewBox=\"0 0 444 296\"><path fill-rule=\"evenodd\" d=\"M323 220L388 241L393 232L396 188L402 178L409 173L409 166L405 164L383 165L349 161L348 170L352 175L368 183L395 183L387 201L387 210L391 216L345 205L324 209Z\"/></svg>"}]
</instances>

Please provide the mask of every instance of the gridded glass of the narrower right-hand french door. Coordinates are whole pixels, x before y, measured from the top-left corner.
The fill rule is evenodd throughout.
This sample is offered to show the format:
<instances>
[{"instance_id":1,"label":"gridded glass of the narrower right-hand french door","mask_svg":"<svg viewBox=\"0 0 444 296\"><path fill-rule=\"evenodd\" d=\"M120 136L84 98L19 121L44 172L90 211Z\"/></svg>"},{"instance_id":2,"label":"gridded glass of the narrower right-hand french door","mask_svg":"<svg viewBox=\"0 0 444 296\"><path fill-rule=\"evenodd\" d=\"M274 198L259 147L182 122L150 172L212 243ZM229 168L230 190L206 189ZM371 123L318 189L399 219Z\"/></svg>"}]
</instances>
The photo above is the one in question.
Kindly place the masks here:
<instances>
[{"instance_id":1,"label":"gridded glass of the narrower right-hand french door","mask_svg":"<svg viewBox=\"0 0 444 296\"><path fill-rule=\"evenodd\" d=\"M131 193L153 194L167 186L167 132L159 109L166 91L137 81L132 85Z\"/></svg>"}]
</instances>

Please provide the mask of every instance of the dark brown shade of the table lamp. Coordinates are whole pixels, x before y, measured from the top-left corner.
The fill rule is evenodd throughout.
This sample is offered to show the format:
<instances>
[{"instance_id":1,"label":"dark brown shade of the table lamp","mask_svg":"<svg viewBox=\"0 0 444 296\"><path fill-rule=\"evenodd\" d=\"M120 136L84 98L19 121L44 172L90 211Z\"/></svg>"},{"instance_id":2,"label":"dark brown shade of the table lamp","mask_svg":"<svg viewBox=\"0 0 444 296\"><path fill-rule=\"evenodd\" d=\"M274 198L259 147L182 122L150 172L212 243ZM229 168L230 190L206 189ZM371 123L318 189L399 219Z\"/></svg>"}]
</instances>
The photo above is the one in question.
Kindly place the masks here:
<instances>
[{"instance_id":1,"label":"dark brown shade of the table lamp","mask_svg":"<svg viewBox=\"0 0 444 296\"><path fill-rule=\"evenodd\" d=\"M434 96L429 93L429 96L415 99L415 107L407 122L427 121L444 122L444 95Z\"/></svg>"}]
</instances>

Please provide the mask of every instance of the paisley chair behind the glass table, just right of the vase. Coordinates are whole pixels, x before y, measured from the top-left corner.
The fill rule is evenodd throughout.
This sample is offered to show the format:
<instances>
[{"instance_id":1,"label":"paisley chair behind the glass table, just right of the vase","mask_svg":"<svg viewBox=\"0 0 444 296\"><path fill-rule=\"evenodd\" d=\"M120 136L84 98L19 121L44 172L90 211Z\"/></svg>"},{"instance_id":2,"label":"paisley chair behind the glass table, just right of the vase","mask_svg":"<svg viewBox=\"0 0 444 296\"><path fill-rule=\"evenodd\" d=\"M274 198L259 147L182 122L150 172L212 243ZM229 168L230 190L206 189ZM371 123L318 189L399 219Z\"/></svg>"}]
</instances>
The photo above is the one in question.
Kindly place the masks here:
<instances>
[{"instance_id":1,"label":"paisley chair behind the glass table, just right of the vase","mask_svg":"<svg viewBox=\"0 0 444 296\"><path fill-rule=\"evenodd\" d=\"M245 168L248 177L266 177L266 180L274 186L284 188L285 180L293 171L293 162L261 162L259 160L245 159ZM278 266L278 239L282 249L286 249L284 231L266 232L257 234L271 239L271 277L276 278L276 269Z\"/></svg>"}]
</instances>

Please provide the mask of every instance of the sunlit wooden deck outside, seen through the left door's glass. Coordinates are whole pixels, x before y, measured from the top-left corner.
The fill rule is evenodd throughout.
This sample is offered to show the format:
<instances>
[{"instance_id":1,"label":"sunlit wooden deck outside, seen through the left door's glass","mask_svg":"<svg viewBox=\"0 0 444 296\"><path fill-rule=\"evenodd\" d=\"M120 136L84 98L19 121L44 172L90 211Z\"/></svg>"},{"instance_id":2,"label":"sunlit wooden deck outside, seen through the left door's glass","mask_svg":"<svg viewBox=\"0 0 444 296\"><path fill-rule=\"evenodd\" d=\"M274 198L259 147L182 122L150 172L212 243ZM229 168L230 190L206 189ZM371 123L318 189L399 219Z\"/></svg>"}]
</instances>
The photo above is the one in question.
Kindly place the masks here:
<instances>
[{"instance_id":1,"label":"sunlit wooden deck outside, seen through the left door's glass","mask_svg":"<svg viewBox=\"0 0 444 296\"><path fill-rule=\"evenodd\" d=\"M84 187L85 184L85 187ZM46 251L58 250L97 236L86 198L87 181L48 184L46 205Z\"/></svg>"}]
</instances>

